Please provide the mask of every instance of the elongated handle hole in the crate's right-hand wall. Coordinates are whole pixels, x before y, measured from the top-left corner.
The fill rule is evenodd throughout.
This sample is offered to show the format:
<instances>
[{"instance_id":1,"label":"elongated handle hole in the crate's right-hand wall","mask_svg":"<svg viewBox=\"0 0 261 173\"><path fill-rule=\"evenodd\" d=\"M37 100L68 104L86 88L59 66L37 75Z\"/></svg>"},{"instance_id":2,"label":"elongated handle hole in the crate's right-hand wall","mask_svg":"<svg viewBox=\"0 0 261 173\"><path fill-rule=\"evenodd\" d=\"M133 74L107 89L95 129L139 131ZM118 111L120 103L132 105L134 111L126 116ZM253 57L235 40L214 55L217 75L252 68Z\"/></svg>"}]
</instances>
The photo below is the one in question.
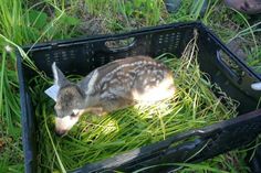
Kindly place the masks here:
<instances>
[{"instance_id":1,"label":"elongated handle hole in the crate's right-hand wall","mask_svg":"<svg viewBox=\"0 0 261 173\"><path fill-rule=\"evenodd\" d=\"M237 83L242 83L242 77L246 75L243 69L223 51L218 52L218 57L227 69L228 73L233 74L237 77Z\"/></svg>"}]
</instances>

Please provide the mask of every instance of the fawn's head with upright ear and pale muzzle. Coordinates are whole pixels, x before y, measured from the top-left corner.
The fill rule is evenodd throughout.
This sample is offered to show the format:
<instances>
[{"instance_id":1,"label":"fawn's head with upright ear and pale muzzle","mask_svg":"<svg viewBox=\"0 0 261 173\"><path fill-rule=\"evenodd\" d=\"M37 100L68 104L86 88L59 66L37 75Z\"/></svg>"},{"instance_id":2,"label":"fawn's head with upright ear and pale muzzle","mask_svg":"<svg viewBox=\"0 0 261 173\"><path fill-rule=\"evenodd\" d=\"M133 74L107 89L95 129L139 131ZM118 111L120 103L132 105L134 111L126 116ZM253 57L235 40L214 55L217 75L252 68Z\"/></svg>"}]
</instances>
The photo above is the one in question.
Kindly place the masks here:
<instances>
[{"instance_id":1,"label":"fawn's head with upright ear and pale muzzle","mask_svg":"<svg viewBox=\"0 0 261 173\"><path fill-rule=\"evenodd\" d=\"M56 104L54 106L55 132L59 136L65 134L77 121L85 107L85 94L76 85L71 83L58 68L52 65L54 84L59 86Z\"/></svg>"}]
</instances>

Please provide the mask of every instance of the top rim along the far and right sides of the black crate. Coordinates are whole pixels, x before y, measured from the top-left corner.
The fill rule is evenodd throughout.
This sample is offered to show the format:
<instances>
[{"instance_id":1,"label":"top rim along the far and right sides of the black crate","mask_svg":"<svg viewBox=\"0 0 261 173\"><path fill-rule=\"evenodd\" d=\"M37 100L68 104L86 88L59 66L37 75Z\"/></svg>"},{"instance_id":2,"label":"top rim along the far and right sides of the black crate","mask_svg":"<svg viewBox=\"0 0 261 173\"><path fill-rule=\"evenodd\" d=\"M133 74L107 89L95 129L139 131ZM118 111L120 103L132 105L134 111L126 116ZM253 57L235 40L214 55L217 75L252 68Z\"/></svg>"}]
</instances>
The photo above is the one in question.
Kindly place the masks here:
<instances>
[{"instance_id":1,"label":"top rim along the far and right sides of the black crate","mask_svg":"<svg viewBox=\"0 0 261 173\"><path fill-rule=\"evenodd\" d=\"M239 58L234 53L232 53L226 44L221 40L217 40L217 36L211 29L209 29L207 25L205 25L201 21L190 21L190 22L174 22L169 24L160 24L160 25L155 25L155 26L145 26L140 29L134 29L130 31L124 31L122 33L109 33L109 34L96 34L96 35L82 35L79 37L72 37L72 39L65 39L65 40L53 40L50 42L42 42L42 43L36 43L36 44L28 44L28 45L22 45L21 48L28 53L28 52L33 52L33 51L44 51L44 50L52 50L56 47L63 47L63 46L71 46L71 45L79 45L83 43L90 43L90 42L95 42L95 41L114 41L114 40L119 40L119 39L126 39L130 37L132 35L135 36L137 34L143 34L147 32L154 32L163 29L171 30L173 28L182 28L182 26L196 26L198 29L202 29L206 32L208 32L209 36L211 36L216 43L223 48L223 51L233 58L233 61L237 61L240 63L242 66L246 67L246 69L254 76L259 82L261 82L261 75L258 75L251 67L247 65L247 63L243 62L243 60ZM22 56L19 52L18 48L15 48L17 55L19 58L22 60Z\"/></svg>"}]
</instances>

